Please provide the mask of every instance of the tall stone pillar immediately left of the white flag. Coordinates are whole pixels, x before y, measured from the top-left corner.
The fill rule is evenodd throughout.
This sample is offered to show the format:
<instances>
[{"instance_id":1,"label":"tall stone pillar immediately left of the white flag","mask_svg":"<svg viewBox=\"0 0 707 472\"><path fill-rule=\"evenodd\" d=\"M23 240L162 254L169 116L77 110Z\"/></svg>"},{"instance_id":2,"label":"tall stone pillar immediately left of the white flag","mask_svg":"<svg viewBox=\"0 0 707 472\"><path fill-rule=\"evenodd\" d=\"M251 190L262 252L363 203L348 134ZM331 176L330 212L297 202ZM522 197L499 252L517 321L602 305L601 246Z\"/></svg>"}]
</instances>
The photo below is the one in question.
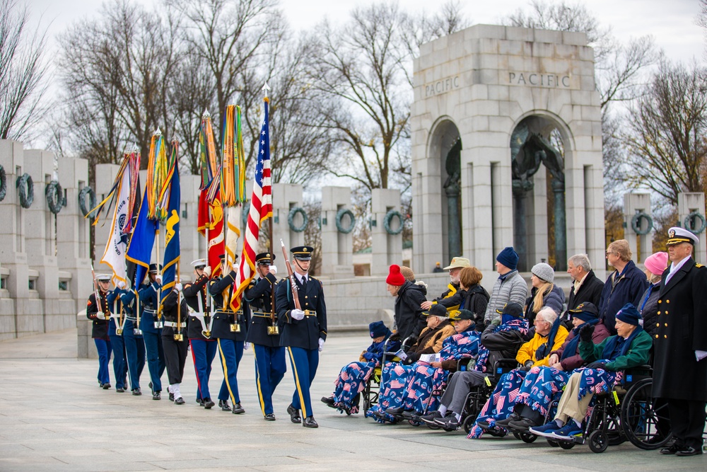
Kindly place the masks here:
<instances>
[{"instance_id":1,"label":"tall stone pillar immediately left of the white flag","mask_svg":"<svg viewBox=\"0 0 707 472\"><path fill-rule=\"evenodd\" d=\"M89 256L90 219L83 217L78 205L78 193L88 186L88 161L73 157L59 158L59 183L66 192L66 207L57 214L57 264L59 282L62 283L59 293L71 296L74 301L71 314L76 315L86 308L86 299L93 292ZM66 289L63 288L64 282ZM72 320L66 318L67 323Z\"/></svg>"}]
</instances>

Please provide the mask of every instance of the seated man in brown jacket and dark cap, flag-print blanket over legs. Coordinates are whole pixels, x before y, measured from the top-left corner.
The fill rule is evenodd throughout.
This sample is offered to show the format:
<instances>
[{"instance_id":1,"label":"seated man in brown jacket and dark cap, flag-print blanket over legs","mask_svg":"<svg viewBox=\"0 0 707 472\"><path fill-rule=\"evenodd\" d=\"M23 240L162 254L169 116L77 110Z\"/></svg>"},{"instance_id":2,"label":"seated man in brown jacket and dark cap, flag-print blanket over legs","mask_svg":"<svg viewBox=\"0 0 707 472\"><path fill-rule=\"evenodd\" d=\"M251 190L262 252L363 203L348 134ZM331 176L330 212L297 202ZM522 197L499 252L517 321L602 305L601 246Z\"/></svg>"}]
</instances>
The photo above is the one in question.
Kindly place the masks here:
<instances>
[{"instance_id":1,"label":"seated man in brown jacket and dark cap, flag-print blanket over legs","mask_svg":"<svg viewBox=\"0 0 707 472\"><path fill-rule=\"evenodd\" d=\"M431 367L430 362L435 360L433 358L437 353L440 353L440 359L446 359L441 357L441 351L448 345L445 340L457 331L442 305L431 306L426 316L427 327L422 330L417 342L400 356L402 362L386 362L383 367L378 404L366 412L367 416L382 422L397 422L402 419L403 412L414 414L421 404L435 401L432 397L433 386L440 384L446 374L443 369ZM475 339L471 343L457 343L448 350L453 350L455 355L468 352L471 357L476 354L478 333L465 336Z\"/></svg>"}]
</instances>

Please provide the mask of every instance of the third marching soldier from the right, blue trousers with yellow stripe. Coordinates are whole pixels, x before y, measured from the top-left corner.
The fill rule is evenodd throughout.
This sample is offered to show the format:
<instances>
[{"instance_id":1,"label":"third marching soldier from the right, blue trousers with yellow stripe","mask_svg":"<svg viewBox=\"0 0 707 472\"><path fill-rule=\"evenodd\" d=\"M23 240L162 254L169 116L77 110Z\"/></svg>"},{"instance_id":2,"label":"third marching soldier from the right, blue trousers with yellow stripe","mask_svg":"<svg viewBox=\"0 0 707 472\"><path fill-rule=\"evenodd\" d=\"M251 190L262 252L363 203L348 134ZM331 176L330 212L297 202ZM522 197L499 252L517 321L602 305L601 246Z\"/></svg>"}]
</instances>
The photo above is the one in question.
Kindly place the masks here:
<instances>
[{"instance_id":1,"label":"third marching soldier from the right, blue trousers with yellow stripe","mask_svg":"<svg viewBox=\"0 0 707 472\"><path fill-rule=\"evenodd\" d=\"M236 256L238 258L238 256ZM221 261L221 274L226 274L226 261ZM216 338L218 344L218 358L221 359L223 369L223 382L221 391L218 392L218 406L223 411L232 411L234 414L245 413L240 405L240 395L238 393L238 364L243 357L243 347L245 343L246 331L249 324L248 313L243 313L243 309L234 313L230 309L230 298L233 296L233 282L235 282L235 270L231 270L228 275L214 277L209 282L209 294L214 300L214 328L211 335ZM233 326L233 328L232 328ZM235 330L234 330L235 329ZM228 405L228 398L233 403L233 408Z\"/></svg>"}]
</instances>

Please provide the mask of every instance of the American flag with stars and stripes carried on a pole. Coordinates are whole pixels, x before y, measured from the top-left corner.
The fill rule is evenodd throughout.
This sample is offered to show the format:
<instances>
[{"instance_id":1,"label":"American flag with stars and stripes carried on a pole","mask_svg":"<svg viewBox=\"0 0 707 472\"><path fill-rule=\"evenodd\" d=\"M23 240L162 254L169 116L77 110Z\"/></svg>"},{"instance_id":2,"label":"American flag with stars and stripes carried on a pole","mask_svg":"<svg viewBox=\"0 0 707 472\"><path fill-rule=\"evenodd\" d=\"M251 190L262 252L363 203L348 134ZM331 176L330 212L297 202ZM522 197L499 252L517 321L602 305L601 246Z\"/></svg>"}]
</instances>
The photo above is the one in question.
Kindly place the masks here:
<instances>
[{"instance_id":1,"label":"American flag with stars and stripes carried on a pole","mask_svg":"<svg viewBox=\"0 0 707 472\"><path fill-rule=\"evenodd\" d=\"M260 224L272 216L272 188L270 181L270 136L268 131L268 98L265 97L265 119L260 129L258 144L258 160L255 164L255 181L253 195L250 199L250 212L245 224L245 241L243 253L240 256L240 267L233 284L233 297L230 308L240 309L241 294L255 273L255 248L258 244Z\"/></svg>"}]
</instances>

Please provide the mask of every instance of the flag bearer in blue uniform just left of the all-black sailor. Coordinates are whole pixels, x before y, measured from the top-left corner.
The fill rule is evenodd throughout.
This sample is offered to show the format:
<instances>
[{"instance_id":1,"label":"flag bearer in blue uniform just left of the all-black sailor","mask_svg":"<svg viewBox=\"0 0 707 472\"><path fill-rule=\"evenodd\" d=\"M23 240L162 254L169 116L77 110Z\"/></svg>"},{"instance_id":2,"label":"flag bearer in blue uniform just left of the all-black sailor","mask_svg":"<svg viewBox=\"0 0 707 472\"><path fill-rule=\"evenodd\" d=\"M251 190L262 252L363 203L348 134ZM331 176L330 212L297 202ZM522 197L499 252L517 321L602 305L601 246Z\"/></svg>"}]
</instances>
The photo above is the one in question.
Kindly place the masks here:
<instances>
[{"instance_id":1,"label":"flag bearer in blue uniform just left of the all-black sailor","mask_svg":"<svg viewBox=\"0 0 707 472\"><path fill-rule=\"evenodd\" d=\"M152 389L152 399L162 398L162 374L165 372L165 351L162 345L162 325L163 320L157 319L157 307L160 303L158 294L162 286L162 280L158 279L158 274L162 272L162 266L150 264L148 280L141 284L138 289L140 298L140 329L147 351L147 368L150 371L150 385Z\"/></svg>"}]
</instances>

